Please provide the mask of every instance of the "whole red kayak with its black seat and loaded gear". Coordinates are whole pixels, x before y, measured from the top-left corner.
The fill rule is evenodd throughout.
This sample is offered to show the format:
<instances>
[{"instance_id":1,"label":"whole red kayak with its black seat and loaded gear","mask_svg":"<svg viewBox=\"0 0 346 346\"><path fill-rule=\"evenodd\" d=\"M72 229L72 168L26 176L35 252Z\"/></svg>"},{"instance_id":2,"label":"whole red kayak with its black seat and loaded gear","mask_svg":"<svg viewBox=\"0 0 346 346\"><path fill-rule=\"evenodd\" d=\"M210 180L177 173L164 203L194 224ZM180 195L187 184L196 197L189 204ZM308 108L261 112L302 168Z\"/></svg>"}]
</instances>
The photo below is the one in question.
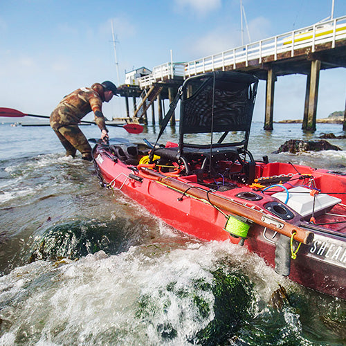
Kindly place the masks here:
<instances>
[{"instance_id":1,"label":"whole red kayak with its black seat and loaded gear","mask_svg":"<svg viewBox=\"0 0 346 346\"><path fill-rule=\"evenodd\" d=\"M97 144L98 176L183 233L230 239L277 273L346 299L346 174L253 158L257 83L231 72L188 78L158 135L180 99L179 143Z\"/></svg>"}]
</instances>

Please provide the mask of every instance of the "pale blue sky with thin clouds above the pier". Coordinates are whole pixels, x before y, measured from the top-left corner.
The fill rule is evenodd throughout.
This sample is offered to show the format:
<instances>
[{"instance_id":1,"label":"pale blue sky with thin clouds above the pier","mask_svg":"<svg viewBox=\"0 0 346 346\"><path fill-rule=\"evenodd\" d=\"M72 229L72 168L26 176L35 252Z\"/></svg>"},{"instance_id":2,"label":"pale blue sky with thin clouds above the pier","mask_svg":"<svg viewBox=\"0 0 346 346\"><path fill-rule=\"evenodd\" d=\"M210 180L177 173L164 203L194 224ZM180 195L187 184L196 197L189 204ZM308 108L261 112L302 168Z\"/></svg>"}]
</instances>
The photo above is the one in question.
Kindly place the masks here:
<instances>
[{"instance_id":1,"label":"pale blue sky with thin clouds above the pier","mask_svg":"<svg viewBox=\"0 0 346 346\"><path fill-rule=\"evenodd\" d=\"M242 3L252 42L310 26L329 17L332 6L332 0ZM335 0L334 18L345 15L346 1ZM118 84L111 21L120 84L125 71L170 62L171 50L174 62L188 62L242 43L239 0L0 0L0 107L49 115L81 86ZM275 121L302 118L305 85L305 75L277 78ZM254 120L264 120L264 95L261 81ZM345 100L346 69L321 71L317 117L345 109ZM125 116L125 99L103 109L107 118Z\"/></svg>"}]
</instances>

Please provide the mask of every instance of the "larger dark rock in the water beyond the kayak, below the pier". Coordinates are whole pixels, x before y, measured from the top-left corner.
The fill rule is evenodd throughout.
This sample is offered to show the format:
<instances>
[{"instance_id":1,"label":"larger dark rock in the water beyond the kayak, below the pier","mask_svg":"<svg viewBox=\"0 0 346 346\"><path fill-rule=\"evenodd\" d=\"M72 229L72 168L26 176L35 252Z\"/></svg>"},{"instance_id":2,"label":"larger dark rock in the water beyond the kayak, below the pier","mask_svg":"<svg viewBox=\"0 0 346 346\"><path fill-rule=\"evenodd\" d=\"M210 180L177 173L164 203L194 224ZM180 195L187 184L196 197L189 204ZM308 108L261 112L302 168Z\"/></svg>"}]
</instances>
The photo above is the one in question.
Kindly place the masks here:
<instances>
[{"instance_id":1,"label":"larger dark rock in the water beyond the kayak, below the pier","mask_svg":"<svg viewBox=\"0 0 346 346\"><path fill-rule=\"evenodd\" d=\"M321 150L341 150L336 145L332 145L327 140L300 140L290 139L277 149L273 154L280 152L290 152L296 154L299 152L320 152Z\"/></svg>"}]
</instances>

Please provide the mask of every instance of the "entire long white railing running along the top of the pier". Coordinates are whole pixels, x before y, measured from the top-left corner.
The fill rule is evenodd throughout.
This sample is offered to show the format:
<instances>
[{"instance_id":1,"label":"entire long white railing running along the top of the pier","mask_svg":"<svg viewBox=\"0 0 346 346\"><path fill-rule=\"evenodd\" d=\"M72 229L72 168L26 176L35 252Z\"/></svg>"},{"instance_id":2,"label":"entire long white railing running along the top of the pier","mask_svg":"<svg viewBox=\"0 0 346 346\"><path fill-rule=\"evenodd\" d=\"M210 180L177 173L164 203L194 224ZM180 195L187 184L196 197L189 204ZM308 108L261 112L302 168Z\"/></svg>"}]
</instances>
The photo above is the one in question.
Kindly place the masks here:
<instances>
[{"instance_id":1,"label":"entire long white railing running along the top of the pier","mask_svg":"<svg viewBox=\"0 0 346 346\"><path fill-rule=\"evenodd\" d=\"M191 75L216 69L225 71L226 66L233 66L235 69L237 64L245 63L245 66L248 66L249 62L253 60L258 60L261 64L265 57L273 55L274 60L277 60L278 55L282 53L289 53L289 56L294 57L295 51L300 48L311 48L311 52L314 52L316 46L330 42L331 48L335 48L336 41L340 39L346 39L346 16L262 39L191 62L167 62L154 67L152 74L139 78L139 85L143 89L159 80L174 78L174 76L188 78Z\"/></svg>"}]
</instances>

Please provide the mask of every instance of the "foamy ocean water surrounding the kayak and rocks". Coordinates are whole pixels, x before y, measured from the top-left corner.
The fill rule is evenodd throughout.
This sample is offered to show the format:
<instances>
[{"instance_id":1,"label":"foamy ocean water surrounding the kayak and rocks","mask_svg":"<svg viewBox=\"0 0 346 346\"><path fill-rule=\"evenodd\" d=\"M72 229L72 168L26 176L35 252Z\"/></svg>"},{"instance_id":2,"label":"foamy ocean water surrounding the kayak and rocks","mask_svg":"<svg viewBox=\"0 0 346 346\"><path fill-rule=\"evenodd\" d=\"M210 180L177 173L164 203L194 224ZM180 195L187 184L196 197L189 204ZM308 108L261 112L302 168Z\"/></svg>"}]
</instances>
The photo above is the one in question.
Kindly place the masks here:
<instances>
[{"instance_id":1,"label":"foamy ocean water surrounding the kayak and rocks","mask_svg":"<svg viewBox=\"0 0 346 346\"><path fill-rule=\"evenodd\" d=\"M346 172L340 151L273 154L341 125L253 123L255 158ZM96 127L82 127L98 138ZM155 141L158 127L111 138ZM160 143L177 140L167 128ZM235 134L237 136L237 134ZM64 157L50 127L0 125L0 345L345 345L346 302L277 275L246 248L201 242ZM268 304L284 286L289 304Z\"/></svg>"}]
</instances>

